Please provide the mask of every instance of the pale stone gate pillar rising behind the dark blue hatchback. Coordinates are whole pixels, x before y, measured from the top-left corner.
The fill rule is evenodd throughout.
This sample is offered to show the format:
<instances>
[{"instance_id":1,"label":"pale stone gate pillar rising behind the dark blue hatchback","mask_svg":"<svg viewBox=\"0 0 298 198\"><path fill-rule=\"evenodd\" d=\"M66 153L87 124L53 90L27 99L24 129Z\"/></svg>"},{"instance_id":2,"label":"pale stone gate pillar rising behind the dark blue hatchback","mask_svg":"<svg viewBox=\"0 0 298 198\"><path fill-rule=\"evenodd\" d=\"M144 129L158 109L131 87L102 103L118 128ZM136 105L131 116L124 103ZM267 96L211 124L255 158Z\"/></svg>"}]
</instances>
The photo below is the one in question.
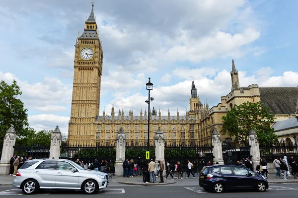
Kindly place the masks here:
<instances>
[{"instance_id":1,"label":"pale stone gate pillar rising behind the dark blue hatchback","mask_svg":"<svg viewBox=\"0 0 298 198\"><path fill-rule=\"evenodd\" d=\"M212 132L212 145L212 152L214 156L213 164L216 164L216 162L219 164L224 164L222 138L220 132L217 129Z\"/></svg>"}]
</instances>

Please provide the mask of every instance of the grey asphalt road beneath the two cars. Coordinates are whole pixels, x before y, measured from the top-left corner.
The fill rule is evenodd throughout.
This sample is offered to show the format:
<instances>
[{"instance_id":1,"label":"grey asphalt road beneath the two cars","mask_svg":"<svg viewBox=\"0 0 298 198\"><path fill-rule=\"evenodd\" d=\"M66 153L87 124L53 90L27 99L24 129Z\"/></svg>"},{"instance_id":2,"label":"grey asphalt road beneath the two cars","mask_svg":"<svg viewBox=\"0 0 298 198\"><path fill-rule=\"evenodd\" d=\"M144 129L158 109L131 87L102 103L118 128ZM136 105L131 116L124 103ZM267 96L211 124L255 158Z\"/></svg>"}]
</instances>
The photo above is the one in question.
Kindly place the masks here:
<instances>
[{"instance_id":1,"label":"grey asphalt road beneath the two cars","mask_svg":"<svg viewBox=\"0 0 298 198\"><path fill-rule=\"evenodd\" d=\"M204 198L273 198L273 197L296 197L298 193L298 184L271 184L269 189L264 193L258 193L253 191L237 191L237 192L225 192L223 194L215 194L206 192L199 186L113 186L100 191L95 195L88 197L95 198L104 196L105 198L198 198L198 196L204 196ZM11 186L0 187L0 197L13 197L24 198L22 191L14 189ZM66 191L44 191L38 193L32 197L45 197L45 198L81 198L85 196L80 191L66 192ZM31 196L30 196L31 197Z\"/></svg>"}]
</instances>

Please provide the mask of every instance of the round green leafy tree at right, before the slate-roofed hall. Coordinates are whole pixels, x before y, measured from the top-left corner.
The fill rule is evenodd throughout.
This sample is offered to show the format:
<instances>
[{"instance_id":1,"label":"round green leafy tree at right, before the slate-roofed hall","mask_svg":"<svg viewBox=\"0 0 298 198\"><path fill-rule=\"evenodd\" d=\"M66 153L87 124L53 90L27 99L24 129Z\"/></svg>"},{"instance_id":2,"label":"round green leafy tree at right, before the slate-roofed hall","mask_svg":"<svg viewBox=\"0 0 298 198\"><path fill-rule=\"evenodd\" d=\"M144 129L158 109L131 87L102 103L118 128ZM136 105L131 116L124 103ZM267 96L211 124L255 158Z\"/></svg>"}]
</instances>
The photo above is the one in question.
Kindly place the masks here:
<instances>
[{"instance_id":1,"label":"round green leafy tree at right, before the slate-roofed hall","mask_svg":"<svg viewBox=\"0 0 298 198\"><path fill-rule=\"evenodd\" d=\"M248 134L251 129L257 133L261 145L272 144L277 140L274 129L270 127L274 122L273 113L263 107L261 102L235 105L222 120L224 124L221 132L235 136L236 141L246 145L248 145Z\"/></svg>"}]
</instances>

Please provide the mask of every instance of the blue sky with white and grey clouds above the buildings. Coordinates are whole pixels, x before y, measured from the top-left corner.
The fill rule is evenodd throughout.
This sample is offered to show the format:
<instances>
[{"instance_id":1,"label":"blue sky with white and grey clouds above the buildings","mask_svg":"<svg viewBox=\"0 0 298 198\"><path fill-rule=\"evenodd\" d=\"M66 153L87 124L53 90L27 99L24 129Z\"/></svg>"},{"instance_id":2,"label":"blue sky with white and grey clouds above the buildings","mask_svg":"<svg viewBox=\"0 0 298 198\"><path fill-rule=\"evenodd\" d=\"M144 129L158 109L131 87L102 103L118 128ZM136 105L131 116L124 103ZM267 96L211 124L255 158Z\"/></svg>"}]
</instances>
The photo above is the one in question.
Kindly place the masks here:
<instances>
[{"instance_id":1,"label":"blue sky with white and grey clouds above the buildings","mask_svg":"<svg viewBox=\"0 0 298 198\"><path fill-rule=\"evenodd\" d=\"M17 5L17 6L16 6ZM104 50L100 115L112 104L139 115L148 96L166 115L189 109L194 78L212 107L230 90L231 60L240 86L297 86L296 0L95 0ZM91 0L3 0L0 80L16 79L36 130L67 133L74 44Z\"/></svg>"}]
</instances>

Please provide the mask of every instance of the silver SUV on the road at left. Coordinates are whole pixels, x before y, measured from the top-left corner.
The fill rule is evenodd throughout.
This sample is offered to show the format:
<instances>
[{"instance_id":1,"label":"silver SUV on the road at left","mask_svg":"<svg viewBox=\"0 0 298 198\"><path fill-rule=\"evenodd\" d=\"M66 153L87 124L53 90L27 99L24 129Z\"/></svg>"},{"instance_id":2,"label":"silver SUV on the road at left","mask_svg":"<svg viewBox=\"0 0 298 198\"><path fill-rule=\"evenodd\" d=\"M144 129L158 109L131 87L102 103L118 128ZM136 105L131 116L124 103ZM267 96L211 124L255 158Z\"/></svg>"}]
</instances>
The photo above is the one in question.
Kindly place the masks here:
<instances>
[{"instance_id":1,"label":"silver SUV on the road at left","mask_svg":"<svg viewBox=\"0 0 298 198\"><path fill-rule=\"evenodd\" d=\"M39 189L82 190L93 194L108 185L108 174L84 170L66 159L34 159L18 169L12 186L32 195Z\"/></svg>"}]
</instances>

